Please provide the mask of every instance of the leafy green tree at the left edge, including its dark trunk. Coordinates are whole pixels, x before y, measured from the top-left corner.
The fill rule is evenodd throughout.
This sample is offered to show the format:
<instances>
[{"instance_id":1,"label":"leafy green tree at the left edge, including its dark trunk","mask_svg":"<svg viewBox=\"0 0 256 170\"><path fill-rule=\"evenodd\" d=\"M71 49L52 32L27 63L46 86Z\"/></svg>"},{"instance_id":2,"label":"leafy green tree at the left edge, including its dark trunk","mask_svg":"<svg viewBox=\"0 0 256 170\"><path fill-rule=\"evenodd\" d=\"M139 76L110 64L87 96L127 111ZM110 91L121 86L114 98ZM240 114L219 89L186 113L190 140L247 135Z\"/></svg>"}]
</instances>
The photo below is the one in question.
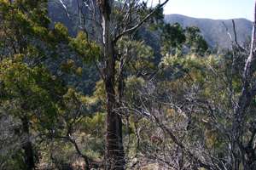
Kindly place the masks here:
<instances>
[{"instance_id":1,"label":"leafy green tree at the left edge, including its dark trunk","mask_svg":"<svg viewBox=\"0 0 256 170\"><path fill-rule=\"evenodd\" d=\"M61 24L49 29L47 3L45 0L0 1L0 105L20 120L20 132L24 136L22 169L35 168L32 136L39 131L54 130L61 99L67 92L66 84L53 74L49 65L54 65L54 57L61 56L57 52L63 46L79 53L76 45L79 38L68 37L67 29ZM94 47L89 43L84 47L87 45ZM75 68L73 62L56 67Z\"/></svg>"}]
</instances>

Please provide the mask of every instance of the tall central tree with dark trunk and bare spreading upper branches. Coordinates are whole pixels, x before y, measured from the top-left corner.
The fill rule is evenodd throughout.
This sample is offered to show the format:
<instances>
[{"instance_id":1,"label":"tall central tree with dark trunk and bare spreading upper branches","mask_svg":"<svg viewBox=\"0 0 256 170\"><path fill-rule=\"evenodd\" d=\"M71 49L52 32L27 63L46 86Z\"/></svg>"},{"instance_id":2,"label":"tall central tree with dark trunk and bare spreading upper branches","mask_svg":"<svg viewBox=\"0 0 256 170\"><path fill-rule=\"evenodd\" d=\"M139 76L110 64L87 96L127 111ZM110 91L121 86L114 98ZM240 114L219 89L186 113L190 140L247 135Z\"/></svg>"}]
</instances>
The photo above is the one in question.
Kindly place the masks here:
<instances>
[{"instance_id":1,"label":"tall central tree with dark trunk and bare spreading upper branches","mask_svg":"<svg viewBox=\"0 0 256 170\"><path fill-rule=\"evenodd\" d=\"M116 53L116 44L124 36L132 35L143 24L150 19L158 9L167 2L159 1L154 7L148 8L148 3L144 1L79 1L79 4L87 8L84 20L93 20L90 28L95 28L91 35L91 29L82 26L88 36L96 40L102 48L102 56L94 61L104 82L106 90L106 162L108 169L124 169L125 153L122 139L122 120L118 107L118 95L115 91L117 84L116 65L119 56ZM61 1L63 4L63 2ZM152 1L152 3L155 3ZM83 12L79 12L82 14ZM120 62L123 68L128 60ZM122 81L119 81L122 83Z\"/></svg>"}]
</instances>

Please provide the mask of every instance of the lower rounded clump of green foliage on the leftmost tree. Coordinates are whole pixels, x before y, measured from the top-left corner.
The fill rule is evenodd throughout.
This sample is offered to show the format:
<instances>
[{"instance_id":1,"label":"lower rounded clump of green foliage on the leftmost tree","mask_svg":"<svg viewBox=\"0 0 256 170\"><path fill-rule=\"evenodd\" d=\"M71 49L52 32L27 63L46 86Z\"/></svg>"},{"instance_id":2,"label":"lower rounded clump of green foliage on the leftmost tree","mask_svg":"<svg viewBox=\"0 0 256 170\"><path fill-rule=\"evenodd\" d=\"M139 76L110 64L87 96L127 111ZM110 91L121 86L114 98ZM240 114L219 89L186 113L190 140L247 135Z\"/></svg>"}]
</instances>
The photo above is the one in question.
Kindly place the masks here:
<instances>
[{"instance_id":1,"label":"lower rounded clump of green foliage on the leftmost tree","mask_svg":"<svg viewBox=\"0 0 256 170\"><path fill-rule=\"evenodd\" d=\"M49 127L57 114L55 104L65 88L44 67L29 68L19 61L5 59L0 66L3 83L1 105L15 116L29 116Z\"/></svg>"}]
</instances>

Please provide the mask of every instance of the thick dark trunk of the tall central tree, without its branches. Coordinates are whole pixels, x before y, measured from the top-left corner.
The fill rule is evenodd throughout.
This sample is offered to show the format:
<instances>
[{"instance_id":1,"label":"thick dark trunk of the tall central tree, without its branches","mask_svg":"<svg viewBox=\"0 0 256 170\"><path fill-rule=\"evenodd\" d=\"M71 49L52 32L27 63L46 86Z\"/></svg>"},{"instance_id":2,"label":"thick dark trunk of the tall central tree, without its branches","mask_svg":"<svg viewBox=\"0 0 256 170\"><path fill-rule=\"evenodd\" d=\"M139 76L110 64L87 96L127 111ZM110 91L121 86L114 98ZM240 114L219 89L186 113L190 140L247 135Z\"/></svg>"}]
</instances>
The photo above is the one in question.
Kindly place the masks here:
<instances>
[{"instance_id":1,"label":"thick dark trunk of the tall central tree, without its branches","mask_svg":"<svg viewBox=\"0 0 256 170\"><path fill-rule=\"evenodd\" d=\"M113 37L111 35L111 8L113 0L100 0L103 29L103 54L106 60L104 69L104 83L107 95L107 120L106 120L106 164L107 169L124 169L125 154L122 140L122 120L116 111L115 94L115 64Z\"/></svg>"}]
</instances>

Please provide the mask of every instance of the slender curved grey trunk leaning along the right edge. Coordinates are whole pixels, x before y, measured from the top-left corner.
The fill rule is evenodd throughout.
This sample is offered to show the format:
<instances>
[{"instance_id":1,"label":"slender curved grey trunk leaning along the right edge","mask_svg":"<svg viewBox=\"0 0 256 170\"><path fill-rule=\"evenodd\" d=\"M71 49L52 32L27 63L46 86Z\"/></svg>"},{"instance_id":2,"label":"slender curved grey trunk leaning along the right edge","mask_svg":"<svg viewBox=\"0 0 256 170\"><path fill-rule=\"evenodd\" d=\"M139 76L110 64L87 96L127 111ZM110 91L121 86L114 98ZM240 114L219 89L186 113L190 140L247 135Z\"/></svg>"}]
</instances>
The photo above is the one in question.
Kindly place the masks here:
<instances>
[{"instance_id":1,"label":"slender curved grey trunk leaning along the right edge","mask_svg":"<svg viewBox=\"0 0 256 170\"><path fill-rule=\"evenodd\" d=\"M240 164L243 164L245 169L249 169L247 166L248 162L245 160L250 156L246 156L247 150L243 146L243 126L245 124L246 111L250 106L253 97L255 96L253 92L252 77L253 77L253 67L255 66L256 54L254 52L256 46L256 2L254 4L254 21L253 21L253 33L251 39L250 54L247 58L246 65L243 71L243 85L241 89L241 95L238 99L238 103L234 110L234 122L232 127L232 149L233 150L233 167L232 169L238 170Z\"/></svg>"}]
</instances>

